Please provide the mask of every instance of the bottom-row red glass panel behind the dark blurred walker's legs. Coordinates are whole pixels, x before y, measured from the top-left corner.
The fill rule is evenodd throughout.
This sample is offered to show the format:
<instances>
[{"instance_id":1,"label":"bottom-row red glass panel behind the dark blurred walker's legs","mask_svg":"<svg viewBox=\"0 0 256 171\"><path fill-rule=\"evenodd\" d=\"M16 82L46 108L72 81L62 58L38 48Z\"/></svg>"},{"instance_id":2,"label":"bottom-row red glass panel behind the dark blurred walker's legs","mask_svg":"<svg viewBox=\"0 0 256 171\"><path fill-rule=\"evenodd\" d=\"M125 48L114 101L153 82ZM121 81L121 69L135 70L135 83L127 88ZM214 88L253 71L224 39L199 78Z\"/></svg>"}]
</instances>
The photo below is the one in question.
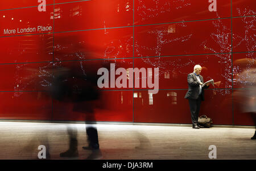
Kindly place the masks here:
<instances>
[{"instance_id":1,"label":"bottom-row red glass panel behind the dark blurred walker's legs","mask_svg":"<svg viewBox=\"0 0 256 171\"><path fill-rule=\"evenodd\" d=\"M86 105L95 106L94 114L88 113ZM101 91L99 100L84 103L79 112L71 102L53 102L53 120L60 121L133 121L133 91Z\"/></svg>"}]
</instances>

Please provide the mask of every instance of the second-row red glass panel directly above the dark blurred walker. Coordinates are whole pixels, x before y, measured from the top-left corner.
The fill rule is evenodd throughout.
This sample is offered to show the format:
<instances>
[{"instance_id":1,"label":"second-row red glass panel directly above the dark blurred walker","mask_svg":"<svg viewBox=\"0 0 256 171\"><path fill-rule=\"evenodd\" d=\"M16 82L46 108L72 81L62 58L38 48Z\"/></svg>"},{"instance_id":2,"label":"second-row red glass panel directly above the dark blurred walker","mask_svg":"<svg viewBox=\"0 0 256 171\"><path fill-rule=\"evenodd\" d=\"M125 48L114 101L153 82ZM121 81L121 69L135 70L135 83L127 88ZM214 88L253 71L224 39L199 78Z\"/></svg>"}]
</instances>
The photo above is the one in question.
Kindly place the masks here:
<instances>
[{"instance_id":1,"label":"second-row red glass panel directly above the dark blurred walker","mask_svg":"<svg viewBox=\"0 0 256 171\"><path fill-rule=\"evenodd\" d=\"M133 56L133 28L115 28L54 35L56 61Z\"/></svg>"}]
</instances>

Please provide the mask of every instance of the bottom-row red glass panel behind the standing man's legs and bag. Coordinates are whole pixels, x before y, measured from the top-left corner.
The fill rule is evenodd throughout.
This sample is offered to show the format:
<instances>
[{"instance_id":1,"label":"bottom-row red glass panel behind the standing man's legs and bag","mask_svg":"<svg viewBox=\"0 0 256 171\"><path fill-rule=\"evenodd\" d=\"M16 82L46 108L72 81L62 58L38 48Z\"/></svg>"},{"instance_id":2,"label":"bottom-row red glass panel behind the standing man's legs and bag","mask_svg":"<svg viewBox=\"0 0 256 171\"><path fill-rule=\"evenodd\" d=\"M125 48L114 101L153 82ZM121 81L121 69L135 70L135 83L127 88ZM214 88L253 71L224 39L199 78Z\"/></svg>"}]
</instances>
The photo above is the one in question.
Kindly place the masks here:
<instances>
[{"instance_id":1,"label":"bottom-row red glass panel behind the standing man's legs and bag","mask_svg":"<svg viewBox=\"0 0 256 171\"><path fill-rule=\"evenodd\" d=\"M155 95L147 91L134 91L134 121L150 123L192 123L187 90L160 90ZM232 124L232 98L229 89L205 90L200 116L212 118L213 124Z\"/></svg>"}]
</instances>

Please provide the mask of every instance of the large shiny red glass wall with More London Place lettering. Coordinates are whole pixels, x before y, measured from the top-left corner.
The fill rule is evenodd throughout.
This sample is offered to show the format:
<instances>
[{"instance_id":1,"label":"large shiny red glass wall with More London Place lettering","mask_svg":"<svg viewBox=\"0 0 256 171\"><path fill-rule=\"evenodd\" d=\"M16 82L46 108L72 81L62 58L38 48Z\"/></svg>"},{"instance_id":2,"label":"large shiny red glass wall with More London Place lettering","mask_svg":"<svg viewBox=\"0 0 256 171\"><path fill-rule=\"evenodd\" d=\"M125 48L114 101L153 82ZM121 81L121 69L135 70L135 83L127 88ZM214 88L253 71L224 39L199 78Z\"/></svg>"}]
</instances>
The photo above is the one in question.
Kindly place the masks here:
<instances>
[{"instance_id":1,"label":"large shiny red glass wall with More London Place lettering","mask_svg":"<svg viewBox=\"0 0 256 171\"><path fill-rule=\"evenodd\" d=\"M204 80L218 83L205 90L200 114L215 125L253 125L237 95L255 89L255 76L239 79L255 69L255 14L254 0L1 1L0 119L84 121L72 103L48 95L46 68L83 72L108 61L158 68L159 91L104 88L96 121L191 123L184 96L199 64Z\"/></svg>"}]
</instances>

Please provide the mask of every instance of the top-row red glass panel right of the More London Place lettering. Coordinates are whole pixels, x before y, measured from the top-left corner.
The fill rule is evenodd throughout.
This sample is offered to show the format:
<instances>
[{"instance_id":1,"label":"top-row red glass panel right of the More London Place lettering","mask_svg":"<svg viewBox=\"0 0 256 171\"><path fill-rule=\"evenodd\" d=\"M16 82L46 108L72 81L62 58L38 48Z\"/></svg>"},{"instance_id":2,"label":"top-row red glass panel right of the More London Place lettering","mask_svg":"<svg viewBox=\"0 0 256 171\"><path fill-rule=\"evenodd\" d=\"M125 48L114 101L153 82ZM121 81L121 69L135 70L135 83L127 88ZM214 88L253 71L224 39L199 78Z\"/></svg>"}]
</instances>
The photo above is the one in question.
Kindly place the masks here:
<instances>
[{"instance_id":1,"label":"top-row red glass panel right of the More London Place lettering","mask_svg":"<svg viewBox=\"0 0 256 171\"><path fill-rule=\"evenodd\" d=\"M55 5L55 32L129 25L133 25L131 0L94 0Z\"/></svg>"}]
</instances>

